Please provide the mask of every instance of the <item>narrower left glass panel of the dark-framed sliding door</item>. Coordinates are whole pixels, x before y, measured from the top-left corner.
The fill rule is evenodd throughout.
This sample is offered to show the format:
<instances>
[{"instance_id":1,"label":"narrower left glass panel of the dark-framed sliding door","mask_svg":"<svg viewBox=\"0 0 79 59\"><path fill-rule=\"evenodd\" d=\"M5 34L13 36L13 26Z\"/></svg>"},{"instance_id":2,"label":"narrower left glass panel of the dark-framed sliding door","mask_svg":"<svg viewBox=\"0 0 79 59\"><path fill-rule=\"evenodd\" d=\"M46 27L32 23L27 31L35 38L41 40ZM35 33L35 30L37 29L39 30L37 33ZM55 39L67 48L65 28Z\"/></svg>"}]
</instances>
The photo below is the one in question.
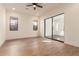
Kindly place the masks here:
<instances>
[{"instance_id":1,"label":"narrower left glass panel of the dark-framed sliding door","mask_svg":"<svg viewBox=\"0 0 79 59\"><path fill-rule=\"evenodd\" d=\"M48 19L45 19L45 28L44 28L44 31L45 31L45 37L46 38L52 38L52 18L48 18Z\"/></svg>"}]
</instances>

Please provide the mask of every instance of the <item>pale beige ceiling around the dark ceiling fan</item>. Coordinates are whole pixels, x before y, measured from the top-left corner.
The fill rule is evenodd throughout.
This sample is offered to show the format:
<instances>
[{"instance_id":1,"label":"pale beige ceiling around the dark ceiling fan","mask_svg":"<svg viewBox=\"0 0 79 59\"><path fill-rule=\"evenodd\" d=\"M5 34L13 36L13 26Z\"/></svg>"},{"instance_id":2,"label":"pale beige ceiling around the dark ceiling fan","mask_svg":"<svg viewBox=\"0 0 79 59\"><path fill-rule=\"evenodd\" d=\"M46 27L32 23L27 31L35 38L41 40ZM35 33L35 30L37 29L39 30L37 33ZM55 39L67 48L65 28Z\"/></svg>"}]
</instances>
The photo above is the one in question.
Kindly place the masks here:
<instances>
[{"instance_id":1,"label":"pale beige ceiling around the dark ceiling fan","mask_svg":"<svg viewBox=\"0 0 79 59\"><path fill-rule=\"evenodd\" d=\"M3 5L9 11L13 11L12 8L16 8L14 10L15 12L26 13L32 16L40 16L60 5L58 3L39 3L39 5L42 5L43 8L37 7L36 10L34 10L33 7L27 7L26 5L28 4L30 3L4 3Z\"/></svg>"}]
</instances>

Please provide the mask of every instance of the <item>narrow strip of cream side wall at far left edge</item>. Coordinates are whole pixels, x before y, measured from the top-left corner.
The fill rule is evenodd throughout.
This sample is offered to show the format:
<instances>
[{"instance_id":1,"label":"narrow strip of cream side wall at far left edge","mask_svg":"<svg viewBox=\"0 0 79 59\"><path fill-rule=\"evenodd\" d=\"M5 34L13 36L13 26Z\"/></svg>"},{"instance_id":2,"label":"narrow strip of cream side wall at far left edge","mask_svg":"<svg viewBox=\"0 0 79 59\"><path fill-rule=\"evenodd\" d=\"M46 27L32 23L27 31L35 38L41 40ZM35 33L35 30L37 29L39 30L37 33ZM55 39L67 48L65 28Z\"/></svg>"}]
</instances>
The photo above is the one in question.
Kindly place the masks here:
<instances>
[{"instance_id":1,"label":"narrow strip of cream side wall at far left edge","mask_svg":"<svg viewBox=\"0 0 79 59\"><path fill-rule=\"evenodd\" d=\"M5 42L6 39L6 10L0 4L0 46Z\"/></svg>"}]
</instances>

